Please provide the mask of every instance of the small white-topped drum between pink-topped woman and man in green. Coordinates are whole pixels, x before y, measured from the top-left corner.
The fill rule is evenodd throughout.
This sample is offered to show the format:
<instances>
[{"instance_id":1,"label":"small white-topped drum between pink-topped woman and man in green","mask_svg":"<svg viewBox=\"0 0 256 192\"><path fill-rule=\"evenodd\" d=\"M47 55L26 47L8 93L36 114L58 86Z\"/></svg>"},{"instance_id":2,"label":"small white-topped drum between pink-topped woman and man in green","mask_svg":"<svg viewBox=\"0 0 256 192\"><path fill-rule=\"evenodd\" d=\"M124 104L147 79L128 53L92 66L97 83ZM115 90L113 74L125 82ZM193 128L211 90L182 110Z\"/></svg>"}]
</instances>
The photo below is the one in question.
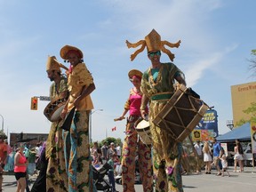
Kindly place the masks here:
<instances>
[{"instance_id":1,"label":"small white-topped drum between pink-topped woman and man in green","mask_svg":"<svg viewBox=\"0 0 256 192\"><path fill-rule=\"evenodd\" d=\"M135 130L140 136L140 140L147 146L152 144L151 132L149 127L149 122L143 118L139 118L135 124Z\"/></svg>"}]
</instances>

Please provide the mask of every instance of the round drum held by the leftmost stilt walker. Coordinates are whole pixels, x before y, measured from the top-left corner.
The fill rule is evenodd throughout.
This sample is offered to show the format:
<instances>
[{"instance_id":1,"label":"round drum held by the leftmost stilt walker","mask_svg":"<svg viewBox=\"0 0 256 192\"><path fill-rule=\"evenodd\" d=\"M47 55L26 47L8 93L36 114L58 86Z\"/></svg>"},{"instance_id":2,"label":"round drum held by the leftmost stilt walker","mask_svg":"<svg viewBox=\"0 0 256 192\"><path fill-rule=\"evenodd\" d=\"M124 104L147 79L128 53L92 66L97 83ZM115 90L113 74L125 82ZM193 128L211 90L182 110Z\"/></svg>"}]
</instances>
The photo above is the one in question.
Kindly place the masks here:
<instances>
[{"instance_id":1,"label":"round drum held by the leftmost stilt walker","mask_svg":"<svg viewBox=\"0 0 256 192\"><path fill-rule=\"evenodd\" d=\"M57 97L52 100L45 108L44 108L44 116L51 122L57 122L60 120L60 114L62 109L65 107L67 99L63 97Z\"/></svg>"}]
</instances>

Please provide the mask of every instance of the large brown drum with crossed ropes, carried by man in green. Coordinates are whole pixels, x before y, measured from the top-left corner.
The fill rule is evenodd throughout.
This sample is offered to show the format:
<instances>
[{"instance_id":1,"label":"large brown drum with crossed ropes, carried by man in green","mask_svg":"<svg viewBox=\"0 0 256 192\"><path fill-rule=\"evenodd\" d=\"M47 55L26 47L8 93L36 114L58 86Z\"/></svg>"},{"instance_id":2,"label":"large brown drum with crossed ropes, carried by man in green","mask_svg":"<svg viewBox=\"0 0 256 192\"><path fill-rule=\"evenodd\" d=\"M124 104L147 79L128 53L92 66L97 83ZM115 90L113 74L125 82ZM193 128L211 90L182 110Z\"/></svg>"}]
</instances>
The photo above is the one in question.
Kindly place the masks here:
<instances>
[{"instance_id":1,"label":"large brown drum with crossed ropes, carried by man in green","mask_svg":"<svg viewBox=\"0 0 256 192\"><path fill-rule=\"evenodd\" d=\"M200 122L209 108L192 89L180 84L172 98L153 119L172 139L183 141Z\"/></svg>"}]
</instances>

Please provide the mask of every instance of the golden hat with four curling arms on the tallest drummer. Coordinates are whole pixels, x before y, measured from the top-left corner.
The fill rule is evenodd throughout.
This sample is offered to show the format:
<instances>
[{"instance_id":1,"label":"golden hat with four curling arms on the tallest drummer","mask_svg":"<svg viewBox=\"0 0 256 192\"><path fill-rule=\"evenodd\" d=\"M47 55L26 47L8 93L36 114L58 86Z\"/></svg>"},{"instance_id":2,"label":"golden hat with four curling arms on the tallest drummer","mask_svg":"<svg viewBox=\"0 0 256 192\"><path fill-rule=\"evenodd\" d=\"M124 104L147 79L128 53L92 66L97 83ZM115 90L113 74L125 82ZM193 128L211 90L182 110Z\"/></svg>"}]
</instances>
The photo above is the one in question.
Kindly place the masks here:
<instances>
[{"instance_id":1,"label":"golden hat with four curling arms on the tallest drummer","mask_svg":"<svg viewBox=\"0 0 256 192\"><path fill-rule=\"evenodd\" d=\"M131 60L134 60L136 58L136 56L140 53L143 52L145 47L147 46L147 50L148 52L152 52L152 51L162 51L165 54L167 54L170 58L170 60L173 61L174 54L172 54L172 52L170 52L170 50L166 49L164 47L164 45L167 45L171 48L176 47L178 48L180 46L181 41L178 41L175 44L172 44L168 41L161 41L161 36L156 32L155 29L153 29L148 36L145 36L145 40L140 40L139 42L135 43L135 44L131 44L130 42L128 42L126 40L126 44L128 48L136 48L139 45L141 45L140 49L137 50L136 52L133 52L131 55Z\"/></svg>"}]
</instances>

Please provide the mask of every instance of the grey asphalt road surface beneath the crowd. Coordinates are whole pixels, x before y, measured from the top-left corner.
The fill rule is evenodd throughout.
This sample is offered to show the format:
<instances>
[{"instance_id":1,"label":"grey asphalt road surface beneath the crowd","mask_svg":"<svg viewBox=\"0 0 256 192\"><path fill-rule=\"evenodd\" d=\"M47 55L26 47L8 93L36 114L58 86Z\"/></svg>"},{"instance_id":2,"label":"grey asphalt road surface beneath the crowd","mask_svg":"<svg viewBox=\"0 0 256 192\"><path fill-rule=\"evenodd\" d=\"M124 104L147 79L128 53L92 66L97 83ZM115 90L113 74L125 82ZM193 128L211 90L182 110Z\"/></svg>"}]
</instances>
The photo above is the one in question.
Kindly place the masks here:
<instances>
[{"instance_id":1,"label":"grey asphalt road surface beneath the crowd","mask_svg":"<svg viewBox=\"0 0 256 192\"><path fill-rule=\"evenodd\" d=\"M233 172L233 167L228 169L224 177L216 176L215 171L212 174L188 174L182 177L185 192L256 192L256 168L244 167L244 172ZM36 178L32 178L32 181ZM32 187L33 183L30 185ZM16 181L13 175L4 175L4 192L16 191ZM116 184L116 190L123 191L122 185ZM135 185L135 190L142 192L140 184Z\"/></svg>"}]
</instances>

